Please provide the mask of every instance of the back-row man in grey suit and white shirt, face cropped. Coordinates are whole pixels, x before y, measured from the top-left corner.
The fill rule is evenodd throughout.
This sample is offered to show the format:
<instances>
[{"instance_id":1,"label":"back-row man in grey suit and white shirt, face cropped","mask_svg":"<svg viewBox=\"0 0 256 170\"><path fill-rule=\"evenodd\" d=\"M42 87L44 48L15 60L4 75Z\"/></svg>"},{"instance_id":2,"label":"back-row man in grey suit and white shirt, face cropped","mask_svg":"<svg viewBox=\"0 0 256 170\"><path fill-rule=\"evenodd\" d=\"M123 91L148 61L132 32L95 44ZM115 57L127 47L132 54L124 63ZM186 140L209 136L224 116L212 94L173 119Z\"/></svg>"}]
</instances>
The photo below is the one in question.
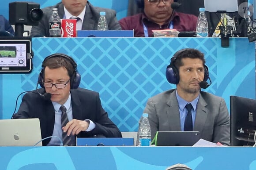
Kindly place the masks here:
<instances>
[{"instance_id":1,"label":"back-row man in grey suit and white shirt, face cropped","mask_svg":"<svg viewBox=\"0 0 256 170\"><path fill-rule=\"evenodd\" d=\"M42 9L44 16L39 25L32 26L30 36L49 37L49 19L53 13L53 8L58 8L60 18L79 18L77 20L77 30L96 30L100 12L105 11L109 30L121 30L116 18L116 11L107 8L94 7L87 0L62 0L62 2Z\"/></svg>"}]
</instances>

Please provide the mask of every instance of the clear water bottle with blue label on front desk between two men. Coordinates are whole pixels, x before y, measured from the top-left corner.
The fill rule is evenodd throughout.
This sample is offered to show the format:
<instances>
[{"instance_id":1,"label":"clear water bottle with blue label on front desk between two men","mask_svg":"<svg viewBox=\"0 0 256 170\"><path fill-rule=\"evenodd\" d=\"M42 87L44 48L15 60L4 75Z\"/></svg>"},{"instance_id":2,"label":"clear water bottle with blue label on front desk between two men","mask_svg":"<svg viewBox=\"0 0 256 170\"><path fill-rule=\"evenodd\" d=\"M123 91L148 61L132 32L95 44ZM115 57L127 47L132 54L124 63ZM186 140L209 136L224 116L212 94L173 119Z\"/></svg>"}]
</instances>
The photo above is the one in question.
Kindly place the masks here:
<instances>
[{"instance_id":1,"label":"clear water bottle with blue label on front desk between two men","mask_svg":"<svg viewBox=\"0 0 256 170\"><path fill-rule=\"evenodd\" d=\"M151 129L148 121L148 114L142 114L142 120L139 126L139 145L150 146L151 143Z\"/></svg>"}]
</instances>

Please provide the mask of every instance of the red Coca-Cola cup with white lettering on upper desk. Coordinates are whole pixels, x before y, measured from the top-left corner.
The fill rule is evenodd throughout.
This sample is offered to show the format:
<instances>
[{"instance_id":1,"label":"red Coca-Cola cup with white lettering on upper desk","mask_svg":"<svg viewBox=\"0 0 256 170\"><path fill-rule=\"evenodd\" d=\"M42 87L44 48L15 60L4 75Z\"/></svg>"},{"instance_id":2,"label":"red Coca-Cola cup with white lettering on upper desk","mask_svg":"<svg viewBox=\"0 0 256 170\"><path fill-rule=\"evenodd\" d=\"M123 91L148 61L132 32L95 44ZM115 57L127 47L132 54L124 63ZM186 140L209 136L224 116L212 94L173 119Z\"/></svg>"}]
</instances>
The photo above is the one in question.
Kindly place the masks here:
<instances>
[{"instance_id":1,"label":"red Coca-Cola cup with white lettering on upper desk","mask_svg":"<svg viewBox=\"0 0 256 170\"><path fill-rule=\"evenodd\" d=\"M61 19L61 36L76 37L76 19Z\"/></svg>"}]
</instances>

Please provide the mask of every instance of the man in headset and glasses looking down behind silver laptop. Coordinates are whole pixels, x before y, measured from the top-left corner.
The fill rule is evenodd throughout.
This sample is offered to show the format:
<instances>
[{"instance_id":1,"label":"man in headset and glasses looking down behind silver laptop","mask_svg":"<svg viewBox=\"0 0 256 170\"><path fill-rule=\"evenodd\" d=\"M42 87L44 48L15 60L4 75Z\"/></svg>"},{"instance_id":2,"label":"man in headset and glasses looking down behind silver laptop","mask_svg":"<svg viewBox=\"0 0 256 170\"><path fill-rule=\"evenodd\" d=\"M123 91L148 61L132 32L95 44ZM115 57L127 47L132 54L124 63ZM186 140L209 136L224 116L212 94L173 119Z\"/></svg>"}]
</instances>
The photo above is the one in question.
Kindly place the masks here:
<instances>
[{"instance_id":1,"label":"man in headset and glasses looking down behind silver laptop","mask_svg":"<svg viewBox=\"0 0 256 170\"><path fill-rule=\"evenodd\" d=\"M79 88L77 64L66 54L45 58L38 76L41 89L23 96L13 119L39 118L43 145L75 145L76 137L122 137L102 108L97 92ZM66 122L66 123L64 123Z\"/></svg>"}]
</instances>

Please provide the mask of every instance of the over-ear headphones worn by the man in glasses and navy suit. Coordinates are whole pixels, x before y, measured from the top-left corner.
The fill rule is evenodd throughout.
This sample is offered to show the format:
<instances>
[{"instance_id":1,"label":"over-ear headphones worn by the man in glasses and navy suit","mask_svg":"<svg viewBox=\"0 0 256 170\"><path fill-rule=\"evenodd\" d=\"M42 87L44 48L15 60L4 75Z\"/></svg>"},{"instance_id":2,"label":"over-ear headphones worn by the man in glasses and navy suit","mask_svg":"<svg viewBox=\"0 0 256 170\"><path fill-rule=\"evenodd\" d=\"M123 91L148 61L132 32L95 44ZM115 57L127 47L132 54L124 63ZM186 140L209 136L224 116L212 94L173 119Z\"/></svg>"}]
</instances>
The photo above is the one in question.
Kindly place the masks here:
<instances>
[{"instance_id":1,"label":"over-ear headphones worn by the man in glasses and navy suit","mask_svg":"<svg viewBox=\"0 0 256 170\"><path fill-rule=\"evenodd\" d=\"M71 89L76 89L79 87L80 81L81 81L81 75L78 73L77 71L77 64L74 61L73 58L71 58L70 56L66 55L66 54L62 54L62 53L55 53L55 54L51 54L48 57L46 57L44 59L44 61L42 62L42 69L41 72L38 75L38 83L40 84L41 87L44 87L44 84L42 83L44 80L44 76L45 76L45 70L44 70L44 65L45 65L45 61L47 61L49 58L54 58L54 57L62 57L66 60L68 60L74 67L75 72L73 73L73 75L70 77L70 88Z\"/></svg>"}]
</instances>

